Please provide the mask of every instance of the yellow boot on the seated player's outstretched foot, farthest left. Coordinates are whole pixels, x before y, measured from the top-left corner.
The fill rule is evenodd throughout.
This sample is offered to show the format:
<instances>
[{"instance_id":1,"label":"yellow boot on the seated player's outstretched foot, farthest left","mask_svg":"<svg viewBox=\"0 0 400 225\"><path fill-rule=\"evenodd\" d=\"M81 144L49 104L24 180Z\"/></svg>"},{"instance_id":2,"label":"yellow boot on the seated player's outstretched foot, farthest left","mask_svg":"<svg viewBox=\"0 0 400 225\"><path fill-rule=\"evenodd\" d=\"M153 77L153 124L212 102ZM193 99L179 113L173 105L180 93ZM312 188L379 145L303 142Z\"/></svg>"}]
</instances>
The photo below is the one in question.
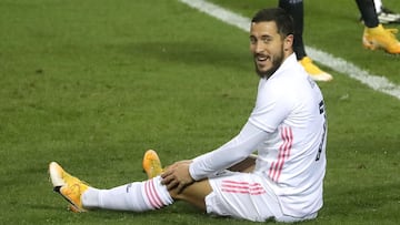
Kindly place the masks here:
<instances>
[{"instance_id":1,"label":"yellow boot on the seated player's outstretched foot, farthest left","mask_svg":"<svg viewBox=\"0 0 400 225\"><path fill-rule=\"evenodd\" d=\"M89 185L71 176L56 162L50 163L49 173L54 192L70 203L70 209L76 213L86 212L81 196L89 188Z\"/></svg>"}]
</instances>

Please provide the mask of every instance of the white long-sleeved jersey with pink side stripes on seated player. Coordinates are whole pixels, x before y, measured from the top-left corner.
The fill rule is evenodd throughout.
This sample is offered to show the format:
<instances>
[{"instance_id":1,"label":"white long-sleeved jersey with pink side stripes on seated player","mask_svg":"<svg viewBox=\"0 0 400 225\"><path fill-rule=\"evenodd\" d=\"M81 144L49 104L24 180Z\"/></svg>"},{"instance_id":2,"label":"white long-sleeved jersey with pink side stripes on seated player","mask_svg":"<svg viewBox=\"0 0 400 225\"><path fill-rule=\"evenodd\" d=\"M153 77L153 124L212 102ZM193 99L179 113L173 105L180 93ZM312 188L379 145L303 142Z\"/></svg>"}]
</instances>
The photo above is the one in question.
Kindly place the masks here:
<instances>
[{"instance_id":1,"label":"white long-sleeved jersey with pink side stripes on seated player","mask_svg":"<svg viewBox=\"0 0 400 225\"><path fill-rule=\"evenodd\" d=\"M200 180L257 150L254 175L273 190L284 215L302 217L322 206L326 137L322 94L291 54L260 80L256 106L239 135L194 158L189 172Z\"/></svg>"}]
</instances>

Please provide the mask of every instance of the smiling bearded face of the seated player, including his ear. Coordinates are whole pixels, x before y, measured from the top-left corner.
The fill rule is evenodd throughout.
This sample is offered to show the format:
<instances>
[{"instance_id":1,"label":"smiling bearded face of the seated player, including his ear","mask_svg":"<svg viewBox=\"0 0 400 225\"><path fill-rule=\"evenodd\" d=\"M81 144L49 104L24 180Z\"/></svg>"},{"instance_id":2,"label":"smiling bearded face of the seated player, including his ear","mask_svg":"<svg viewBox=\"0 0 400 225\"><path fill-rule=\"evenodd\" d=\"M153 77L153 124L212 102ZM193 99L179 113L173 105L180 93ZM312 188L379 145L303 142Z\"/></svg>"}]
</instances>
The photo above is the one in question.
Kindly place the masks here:
<instances>
[{"instance_id":1,"label":"smiling bearded face of the seated player, including his ear","mask_svg":"<svg viewBox=\"0 0 400 225\"><path fill-rule=\"evenodd\" d=\"M271 76L292 51L293 35L281 37L274 21L252 22L250 51L256 71L261 78Z\"/></svg>"}]
</instances>

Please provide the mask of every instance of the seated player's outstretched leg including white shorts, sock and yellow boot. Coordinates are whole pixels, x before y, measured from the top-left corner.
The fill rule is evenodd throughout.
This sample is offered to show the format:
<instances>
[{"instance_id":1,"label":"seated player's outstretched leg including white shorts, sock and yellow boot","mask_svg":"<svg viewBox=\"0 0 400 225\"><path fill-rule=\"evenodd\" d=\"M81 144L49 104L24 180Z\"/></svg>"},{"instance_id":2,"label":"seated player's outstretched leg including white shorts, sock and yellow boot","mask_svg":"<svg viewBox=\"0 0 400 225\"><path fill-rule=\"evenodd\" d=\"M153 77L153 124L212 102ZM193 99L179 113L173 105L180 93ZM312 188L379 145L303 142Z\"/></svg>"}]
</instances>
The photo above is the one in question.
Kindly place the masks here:
<instances>
[{"instance_id":1,"label":"seated player's outstretched leg including white shorts, sock and yellow boot","mask_svg":"<svg viewBox=\"0 0 400 225\"><path fill-rule=\"evenodd\" d=\"M183 192L176 193L161 185L160 176L111 190L98 190L71 176L54 162L50 163L49 171L54 191L60 193L76 212L91 208L143 212L182 200L203 211L207 209L207 213L258 222L269 218L296 222L317 216L284 216L278 197L267 184L268 181L251 173L227 172L210 180L194 182Z\"/></svg>"}]
</instances>

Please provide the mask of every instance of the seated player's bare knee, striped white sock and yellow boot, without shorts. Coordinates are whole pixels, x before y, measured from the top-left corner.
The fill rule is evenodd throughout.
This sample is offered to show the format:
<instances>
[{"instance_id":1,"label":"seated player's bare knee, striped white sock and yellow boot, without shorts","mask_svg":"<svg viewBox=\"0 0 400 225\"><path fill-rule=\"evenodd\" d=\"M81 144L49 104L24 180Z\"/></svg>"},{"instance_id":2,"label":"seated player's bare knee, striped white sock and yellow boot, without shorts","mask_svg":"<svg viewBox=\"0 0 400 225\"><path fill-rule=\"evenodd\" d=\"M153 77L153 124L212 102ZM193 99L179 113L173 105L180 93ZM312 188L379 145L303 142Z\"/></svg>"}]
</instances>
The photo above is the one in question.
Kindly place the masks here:
<instances>
[{"instance_id":1,"label":"seated player's bare knee, striped white sock and yellow boot, without shorts","mask_svg":"<svg viewBox=\"0 0 400 225\"><path fill-rule=\"evenodd\" d=\"M74 212L91 208L114 211L151 211L183 200L204 209L204 197L211 193L208 181L188 186L182 193L169 192L156 176L143 182L133 182L110 190L98 190L67 173L59 164L49 165L50 178L54 191L61 194Z\"/></svg>"}]
</instances>

